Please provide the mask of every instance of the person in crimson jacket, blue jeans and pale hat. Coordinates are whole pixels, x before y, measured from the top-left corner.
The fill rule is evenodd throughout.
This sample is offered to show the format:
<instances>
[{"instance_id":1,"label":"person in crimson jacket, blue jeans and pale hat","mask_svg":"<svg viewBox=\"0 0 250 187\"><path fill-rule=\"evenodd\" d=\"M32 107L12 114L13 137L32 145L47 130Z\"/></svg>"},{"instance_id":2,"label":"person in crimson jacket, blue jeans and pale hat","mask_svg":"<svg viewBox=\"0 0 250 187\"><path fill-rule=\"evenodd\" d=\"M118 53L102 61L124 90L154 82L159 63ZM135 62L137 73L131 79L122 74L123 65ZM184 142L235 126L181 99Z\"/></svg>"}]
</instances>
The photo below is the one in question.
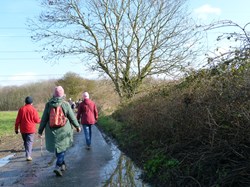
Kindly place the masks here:
<instances>
[{"instance_id":1,"label":"person in crimson jacket, blue jeans and pale hat","mask_svg":"<svg viewBox=\"0 0 250 187\"><path fill-rule=\"evenodd\" d=\"M98 111L96 104L89 99L88 92L83 93L83 101L80 103L77 111L77 120L83 125L87 149L91 146L92 131L91 126L96 124L98 119Z\"/></svg>"}]
</instances>

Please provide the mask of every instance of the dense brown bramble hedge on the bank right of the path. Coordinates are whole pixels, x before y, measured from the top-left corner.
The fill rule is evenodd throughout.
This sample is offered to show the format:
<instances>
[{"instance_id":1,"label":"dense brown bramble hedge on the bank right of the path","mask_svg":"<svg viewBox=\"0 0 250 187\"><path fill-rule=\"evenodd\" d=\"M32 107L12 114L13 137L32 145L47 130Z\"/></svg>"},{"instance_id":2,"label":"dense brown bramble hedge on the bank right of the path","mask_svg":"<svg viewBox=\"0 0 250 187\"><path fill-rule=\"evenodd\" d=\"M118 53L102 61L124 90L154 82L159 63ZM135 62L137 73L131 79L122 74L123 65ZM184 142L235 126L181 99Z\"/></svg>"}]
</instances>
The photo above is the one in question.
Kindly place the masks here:
<instances>
[{"instance_id":1,"label":"dense brown bramble hedge on the bank right of the path","mask_svg":"<svg viewBox=\"0 0 250 187\"><path fill-rule=\"evenodd\" d=\"M113 115L127 124L122 149L144 167L146 180L159 186L250 185L249 67L236 59L193 72ZM176 161L171 169L169 161Z\"/></svg>"}]
</instances>

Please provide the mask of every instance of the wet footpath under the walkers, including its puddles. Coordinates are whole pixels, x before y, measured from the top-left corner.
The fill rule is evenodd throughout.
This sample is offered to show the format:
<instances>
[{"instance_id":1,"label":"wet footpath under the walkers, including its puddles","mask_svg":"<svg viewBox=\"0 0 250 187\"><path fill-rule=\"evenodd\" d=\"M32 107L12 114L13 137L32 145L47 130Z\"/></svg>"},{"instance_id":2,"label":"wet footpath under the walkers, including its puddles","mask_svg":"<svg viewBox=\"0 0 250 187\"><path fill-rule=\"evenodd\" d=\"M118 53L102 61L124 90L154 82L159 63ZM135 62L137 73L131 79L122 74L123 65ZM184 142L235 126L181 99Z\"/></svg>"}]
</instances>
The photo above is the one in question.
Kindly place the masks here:
<instances>
[{"instance_id":1,"label":"wet footpath under the walkers, including its puddles","mask_svg":"<svg viewBox=\"0 0 250 187\"><path fill-rule=\"evenodd\" d=\"M149 186L140 180L140 170L96 126L90 150L85 149L83 131L74 134L74 144L65 155L67 170L62 177L53 173L56 158L45 150L44 139L36 137L32 157L28 162L20 151L1 158L0 186Z\"/></svg>"}]
</instances>

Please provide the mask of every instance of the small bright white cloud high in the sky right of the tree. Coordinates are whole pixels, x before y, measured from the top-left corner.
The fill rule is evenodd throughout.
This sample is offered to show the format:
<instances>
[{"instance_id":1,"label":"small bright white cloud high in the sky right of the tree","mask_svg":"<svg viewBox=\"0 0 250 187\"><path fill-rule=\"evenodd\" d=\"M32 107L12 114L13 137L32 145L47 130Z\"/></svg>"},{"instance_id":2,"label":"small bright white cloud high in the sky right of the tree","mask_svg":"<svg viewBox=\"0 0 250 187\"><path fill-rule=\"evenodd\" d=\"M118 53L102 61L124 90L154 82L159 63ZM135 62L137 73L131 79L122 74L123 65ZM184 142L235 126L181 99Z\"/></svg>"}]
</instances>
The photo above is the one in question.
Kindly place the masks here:
<instances>
[{"instance_id":1,"label":"small bright white cloud high in the sky right of the tree","mask_svg":"<svg viewBox=\"0 0 250 187\"><path fill-rule=\"evenodd\" d=\"M220 15L221 14L221 9L212 7L209 4L205 4L199 8L196 8L194 10L194 13L200 18L206 20L209 15Z\"/></svg>"}]
</instances>

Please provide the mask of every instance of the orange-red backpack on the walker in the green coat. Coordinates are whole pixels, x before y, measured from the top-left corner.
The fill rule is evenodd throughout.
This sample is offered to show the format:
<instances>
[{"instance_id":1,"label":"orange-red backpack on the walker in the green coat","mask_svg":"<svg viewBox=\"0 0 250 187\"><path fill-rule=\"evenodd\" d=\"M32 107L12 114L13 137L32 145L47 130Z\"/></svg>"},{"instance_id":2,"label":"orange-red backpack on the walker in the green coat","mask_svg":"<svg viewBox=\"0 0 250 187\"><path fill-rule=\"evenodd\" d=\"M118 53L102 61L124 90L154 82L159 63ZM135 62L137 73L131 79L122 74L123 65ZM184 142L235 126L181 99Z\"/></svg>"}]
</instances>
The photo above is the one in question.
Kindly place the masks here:
<instances>
[{"instance_id":1,"label":"orange-red backpack on the walker in the green coat","mask_svg":"<svg viewBox=\"0 0 250 187\"><path fill-rule=\"evenodd\" d=\"M61 106L52 107L49 113L49 125L52 128L63 127L67 122Z\"/></svg>"}]
</instances>

